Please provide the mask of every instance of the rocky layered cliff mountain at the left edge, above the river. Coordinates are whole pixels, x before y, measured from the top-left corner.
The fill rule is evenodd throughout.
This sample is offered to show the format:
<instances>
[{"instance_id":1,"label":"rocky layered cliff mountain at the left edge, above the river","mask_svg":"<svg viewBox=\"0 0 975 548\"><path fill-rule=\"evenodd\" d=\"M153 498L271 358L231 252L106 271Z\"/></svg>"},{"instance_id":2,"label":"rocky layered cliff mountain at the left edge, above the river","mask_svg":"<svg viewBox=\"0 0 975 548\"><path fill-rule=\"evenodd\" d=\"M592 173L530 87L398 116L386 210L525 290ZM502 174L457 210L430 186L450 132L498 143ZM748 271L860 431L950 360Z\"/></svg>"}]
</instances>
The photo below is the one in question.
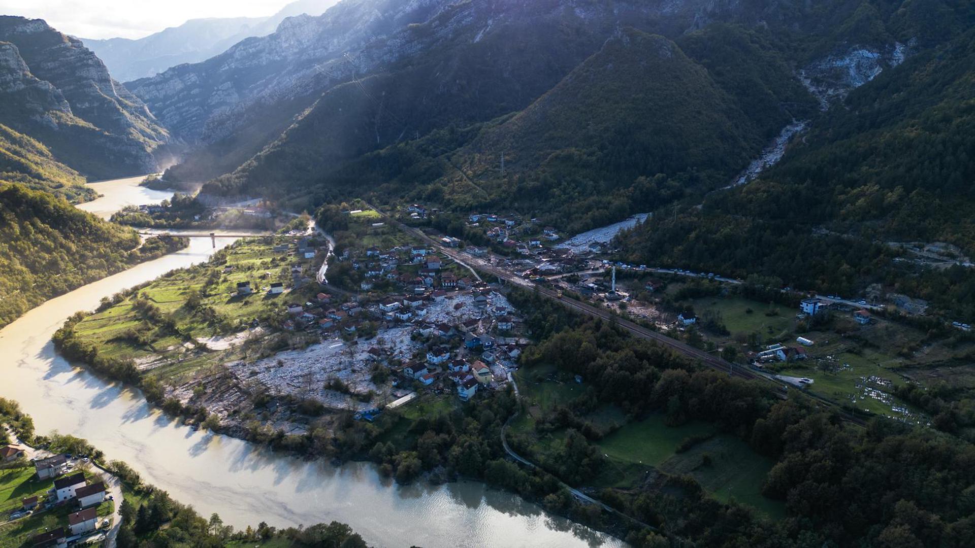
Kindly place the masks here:
<instances>
[{"instance_id":1,"label":"rocky layered cliff mountain at the left edge, above the river","mask_svg":"<svg viewBox=\"0 0 975 548\"><path fill-rule=\"evenodd\" d=\"M169 133L77 39L43 20L0 17L0 124L104 178L155 171Z\"/></svg>"}]
</instances>

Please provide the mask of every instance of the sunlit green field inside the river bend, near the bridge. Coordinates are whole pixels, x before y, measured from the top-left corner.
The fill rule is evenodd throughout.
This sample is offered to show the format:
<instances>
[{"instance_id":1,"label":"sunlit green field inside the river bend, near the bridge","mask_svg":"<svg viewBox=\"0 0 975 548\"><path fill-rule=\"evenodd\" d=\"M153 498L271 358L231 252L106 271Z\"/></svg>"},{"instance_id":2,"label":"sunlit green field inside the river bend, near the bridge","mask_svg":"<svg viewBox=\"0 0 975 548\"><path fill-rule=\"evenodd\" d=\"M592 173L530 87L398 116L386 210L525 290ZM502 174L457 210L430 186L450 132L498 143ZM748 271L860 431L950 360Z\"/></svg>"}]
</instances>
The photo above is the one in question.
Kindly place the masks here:
<instances>
[{"instance_id":1,"label":"sunlit green field inside the river bend, near the bridge","mask_svg":"<svg viewBox=\"0 0 975 548\"><path fill-rule=\"evenodd\" d=\"M289 302L313 300L320 290L315 283L297 290L292 285L292 265L302 276L314 278L316 259L274 252L273 247L292 244L292 236L267 236L239 241L204 264L176 270L151 282L136 295L92 314L75 326L76 335L98 345L106 358L157 360L151 370L161 378L176 378L212 365L207 339L242 333L254 319L262 323L280 320ZM293 247L293 246L292 246ZM238 296L237 283L251 282L253 294ZM282 282L284 294L268 294L271 282ZM195 306L190 301L199 295ZM176 329L154 319L151 312L135 306L143 298L162 318L172 319ZM194 341L200 341L197 344Z\"/></svg>"}]
</instances>

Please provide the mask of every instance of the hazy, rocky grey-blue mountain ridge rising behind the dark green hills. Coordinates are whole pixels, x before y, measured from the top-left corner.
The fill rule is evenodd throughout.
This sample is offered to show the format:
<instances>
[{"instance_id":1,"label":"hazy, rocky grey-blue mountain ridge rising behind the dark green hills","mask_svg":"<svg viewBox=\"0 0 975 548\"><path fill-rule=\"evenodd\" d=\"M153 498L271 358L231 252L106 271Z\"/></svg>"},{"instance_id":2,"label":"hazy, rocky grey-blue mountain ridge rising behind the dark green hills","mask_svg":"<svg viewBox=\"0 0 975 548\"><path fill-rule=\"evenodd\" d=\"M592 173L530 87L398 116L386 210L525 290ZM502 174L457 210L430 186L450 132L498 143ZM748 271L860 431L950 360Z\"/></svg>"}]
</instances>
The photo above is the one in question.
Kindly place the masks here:
<instances>
[{"instance_id":1,"label":"hazy, rocky grey-blue mountain ridge rising behind the dark green hills","mask_svg":"<svg viewBox=\"0 0 975 548\"><path fill-rule=\"evenodd\" d=\"M293 18L270 36L131 87L176 135L203 145L168 177L229 173L268 145L233 177L237 186L258 187L281 166L294 166L300 178L331 170L348 151L369 152L521 110L625 26L676 39L725 21L774 27L773 34L799 29L818 43L824 21L851 17L858 3L347 1L320 18ZM341 86L352 89L343 93ZM314 116L303 122L312 104ZM438 104L443 108L433 108ZM314 129L282 136L292 123ZM241 145L249 156L241 157ZM323 159L310 162L309 151ZM265 160L268 169L261 170Z\"/></svg>"}]
</instances>

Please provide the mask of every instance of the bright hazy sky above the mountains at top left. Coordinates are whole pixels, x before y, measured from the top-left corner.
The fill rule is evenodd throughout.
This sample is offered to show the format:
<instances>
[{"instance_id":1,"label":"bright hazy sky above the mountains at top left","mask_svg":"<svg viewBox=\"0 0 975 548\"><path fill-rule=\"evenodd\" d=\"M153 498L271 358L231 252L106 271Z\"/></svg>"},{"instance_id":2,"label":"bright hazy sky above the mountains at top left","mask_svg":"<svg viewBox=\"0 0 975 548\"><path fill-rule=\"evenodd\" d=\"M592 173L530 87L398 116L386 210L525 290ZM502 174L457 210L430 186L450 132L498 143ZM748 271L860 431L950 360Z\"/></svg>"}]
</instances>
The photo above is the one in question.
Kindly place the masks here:
<instances>
[{"instance_id":1,"label":"bright hazy sky above the mountains at top left","mask_svg":"<svg viewBox=\"0 0 975 548\"><path fill-rule=\"evenodd\" d=\"M81 38L141 38L199 18L270 16L290 0L0 0L0 15L38 18Z\"/></svg>"}]
</instances>

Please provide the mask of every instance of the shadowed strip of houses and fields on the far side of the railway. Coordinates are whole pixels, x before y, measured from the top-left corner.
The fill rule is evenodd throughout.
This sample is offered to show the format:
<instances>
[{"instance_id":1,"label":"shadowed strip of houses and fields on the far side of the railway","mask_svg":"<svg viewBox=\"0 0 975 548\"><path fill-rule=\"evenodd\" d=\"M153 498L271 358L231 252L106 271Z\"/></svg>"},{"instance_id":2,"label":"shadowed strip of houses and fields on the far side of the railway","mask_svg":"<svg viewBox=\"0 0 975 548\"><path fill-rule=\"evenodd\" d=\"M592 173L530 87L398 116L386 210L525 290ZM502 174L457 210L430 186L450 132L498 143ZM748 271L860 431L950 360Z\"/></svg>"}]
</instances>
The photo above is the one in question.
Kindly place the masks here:
<instances>
[{"instance_id":1,"label":"shadowed strip of houses and fields on the far side of the railway","mask_svg":"<svg viewBox=\"0 0 975 548\"><path fill-rule=\"evenodd\" d=\"M435 215L413 204L398 216L408 225L436 226L428 220ZM928 345L915 353L926 335L899 318L924 317L927 303L904 294L883 294L873 286L859 298L763 288L776 301L770 305L767 296L749 296L753 290L741 279L614 260L613 237L645 218L635 215L564 239L554 228L540 226L538 219L466 215L465 234L476 234L481 245L458 242L431 228L423 231L445 250L460 248L475 267L507 272L509 282L551 288L560 298L597 304L721 353L732 363L779 381L783 389L815 391L841 406L899 420L923 424L928 419L895 395L897 387L924 386L942 377L945 371L927 368L970 345L964 342L953 350L956 343L951 340L967 341L970 326L944 322L950 344ZM705 294L696 294L701 288ZM795 307L791 316L788 307Z\"/></svg>"}]
</instances>

